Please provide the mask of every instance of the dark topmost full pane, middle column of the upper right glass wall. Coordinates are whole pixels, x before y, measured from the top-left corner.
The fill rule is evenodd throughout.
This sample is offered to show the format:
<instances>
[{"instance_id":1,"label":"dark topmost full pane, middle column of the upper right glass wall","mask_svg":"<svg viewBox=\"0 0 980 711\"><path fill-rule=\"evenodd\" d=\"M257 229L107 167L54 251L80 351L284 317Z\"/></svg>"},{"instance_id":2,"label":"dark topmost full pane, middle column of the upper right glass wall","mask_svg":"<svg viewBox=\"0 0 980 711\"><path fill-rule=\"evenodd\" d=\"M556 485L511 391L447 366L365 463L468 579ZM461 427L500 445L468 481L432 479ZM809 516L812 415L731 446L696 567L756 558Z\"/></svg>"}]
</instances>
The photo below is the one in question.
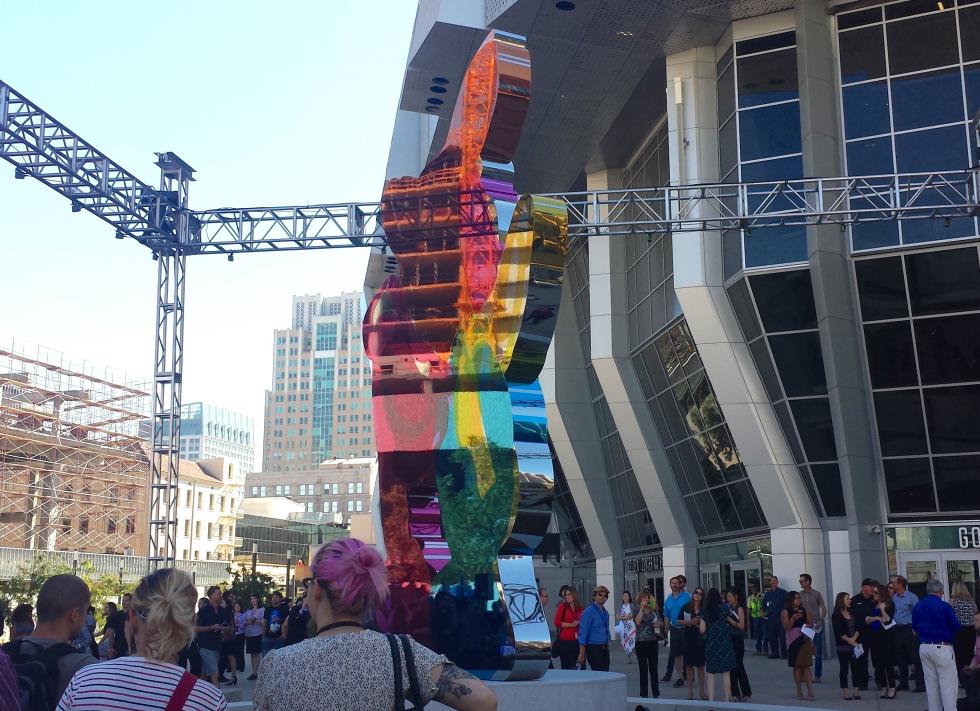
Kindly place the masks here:
<instances>
[{"instance_id":1,"label":"dark topmost full pane, middle column of the upper right glass wall","mask_svg":"<svg viewBox=\"0 0 980 711\"><path fill-rule=\"evenodd\" d=\"M959 61L956 15L952 12L892 22L887 27L892 74L944 67Z\"/></svg>"}]
</instances>

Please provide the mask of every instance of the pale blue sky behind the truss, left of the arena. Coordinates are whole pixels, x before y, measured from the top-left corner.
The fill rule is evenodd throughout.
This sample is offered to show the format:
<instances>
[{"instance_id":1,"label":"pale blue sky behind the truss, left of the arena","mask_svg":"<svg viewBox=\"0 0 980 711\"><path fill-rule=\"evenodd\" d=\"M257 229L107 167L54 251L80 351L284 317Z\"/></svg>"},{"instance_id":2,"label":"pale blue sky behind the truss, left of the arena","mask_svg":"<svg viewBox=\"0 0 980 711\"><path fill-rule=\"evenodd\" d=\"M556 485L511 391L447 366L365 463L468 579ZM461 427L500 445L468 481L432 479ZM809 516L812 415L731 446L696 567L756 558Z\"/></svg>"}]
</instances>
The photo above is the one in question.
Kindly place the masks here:
<instances>
[{"instance_id":1,"label":"pale blue sky behind the truss, left of the arena","mask_svg":"<svg viewBox=\"0 0 980 711\"><path fill-rule=\"evenodd\" d=\"M0 78L145 182L197 170L191 207L380 196L414 0L14 3ZM252 415L290 297L360 289L366 254L193 257L184 399ZM148 379L155 263L0 161L0 344ZM258 453L257 453L258 455ZM258 457L257 457L258 458Z\"/></svg>"}]
</instances>

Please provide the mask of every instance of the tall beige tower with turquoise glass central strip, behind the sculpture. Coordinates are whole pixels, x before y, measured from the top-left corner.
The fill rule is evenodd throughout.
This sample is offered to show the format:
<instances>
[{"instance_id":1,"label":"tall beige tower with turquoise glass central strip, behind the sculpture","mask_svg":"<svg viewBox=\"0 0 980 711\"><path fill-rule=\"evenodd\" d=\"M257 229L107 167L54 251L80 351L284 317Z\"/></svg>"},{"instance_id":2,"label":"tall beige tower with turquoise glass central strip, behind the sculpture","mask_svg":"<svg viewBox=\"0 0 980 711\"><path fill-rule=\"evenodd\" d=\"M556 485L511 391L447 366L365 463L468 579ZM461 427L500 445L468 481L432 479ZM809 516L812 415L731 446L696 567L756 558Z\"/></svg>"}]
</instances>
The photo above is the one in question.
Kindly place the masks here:
<instances>
[{"instance_id":1,"label":"tall beige tower with turquoise glass central strip, behind the sculpture","mask_svg":"<svg viewBox=\"0 0 980 711\"><path fill-rule=\"evenodd\" d=\"M361 347L363 295L294 296L292 313L292 326L274 336L262 471L301 471L327 459L373 456L371 365Z\"/></svg>"}]
</instances>

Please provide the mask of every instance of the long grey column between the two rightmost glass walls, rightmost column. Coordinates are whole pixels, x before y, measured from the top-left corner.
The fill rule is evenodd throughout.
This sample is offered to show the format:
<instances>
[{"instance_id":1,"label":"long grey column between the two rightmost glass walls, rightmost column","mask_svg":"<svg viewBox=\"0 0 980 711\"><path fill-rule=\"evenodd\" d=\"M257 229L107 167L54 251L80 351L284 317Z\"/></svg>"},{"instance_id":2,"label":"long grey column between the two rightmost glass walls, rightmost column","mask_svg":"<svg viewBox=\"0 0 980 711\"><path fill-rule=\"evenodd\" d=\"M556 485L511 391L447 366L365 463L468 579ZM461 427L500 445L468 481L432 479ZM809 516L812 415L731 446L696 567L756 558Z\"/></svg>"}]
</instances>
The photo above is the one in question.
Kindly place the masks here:
<instances>
[{"instance_id":1,"label":"long grey column between the two rightmost glass walls, rightmost column","mask_svg":"<svg viewBox=\"0 0 980 711\"><path fill-rule=\"evenodd\" d=\"M822 0L796 3L797 66L800 83L800 128L804 175L841 175L839 105L834 69L831 20ZM832 565L833 587L855 590L867 576L887 577L880 534L872 527L885 520L874 457L872 415L858 316L857 293L848 259L849 232L835 225L806 228L807 255L813 281L813 300L820 347L827 377L827 394L834 422L847 518L828 519L825 528L846 530L846 539L828 539L836 559L846 555L849 575ZM878 528L877 530L881 530ZM833 543L836 541L836 544ZM843 550L841 550L843 549ZM833 562L833 561L832 561Z\"/></svg>"}]
</instances>

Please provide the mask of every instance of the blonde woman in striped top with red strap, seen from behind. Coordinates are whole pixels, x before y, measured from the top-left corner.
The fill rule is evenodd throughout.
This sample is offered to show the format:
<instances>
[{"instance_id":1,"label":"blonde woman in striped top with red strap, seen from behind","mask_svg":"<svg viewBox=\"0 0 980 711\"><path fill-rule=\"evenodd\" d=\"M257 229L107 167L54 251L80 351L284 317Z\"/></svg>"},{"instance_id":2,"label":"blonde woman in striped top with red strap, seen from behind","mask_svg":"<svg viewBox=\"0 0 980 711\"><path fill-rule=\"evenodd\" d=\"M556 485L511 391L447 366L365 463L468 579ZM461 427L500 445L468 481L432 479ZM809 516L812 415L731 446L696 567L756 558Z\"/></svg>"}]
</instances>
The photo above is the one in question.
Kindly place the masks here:
<instances>
[{"instance_id":1,"label":"blonde woman in striped top with red strap, seen from behind","mask_svg":"<svg viewBox=\"0 0 980 711\"><path fill-rule=\"evenodd\" d=\"M224 711L217 687L178 667L177 655L191 640L197 592L187 573L162 568L133 592L126 628L136 654L79 669L58 711L112 708L114 711Z\"/></svg>"}]
</instances>

